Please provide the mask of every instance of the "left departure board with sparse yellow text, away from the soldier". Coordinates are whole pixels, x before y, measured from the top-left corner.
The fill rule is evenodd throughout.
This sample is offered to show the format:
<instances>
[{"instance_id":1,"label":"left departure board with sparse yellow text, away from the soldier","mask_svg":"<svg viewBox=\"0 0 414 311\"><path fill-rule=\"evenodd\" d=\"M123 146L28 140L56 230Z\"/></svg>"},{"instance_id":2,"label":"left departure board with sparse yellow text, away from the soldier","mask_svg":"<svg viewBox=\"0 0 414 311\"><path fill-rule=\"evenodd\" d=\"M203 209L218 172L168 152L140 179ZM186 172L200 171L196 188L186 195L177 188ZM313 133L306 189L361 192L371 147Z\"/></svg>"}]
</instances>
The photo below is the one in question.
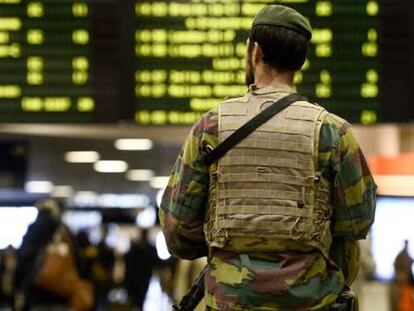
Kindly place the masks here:
<instances>
[{"instance_id":1,"label":"left departure board with sparse yellow text, away from the soldier","mask_svg":"<svg viewBox=\"0 0 414 311\"><path fill-rule=\"evenodd\" d=\"M120 118L118 1L0 0L0 122Z\"/></svg>"}]
</instances>

